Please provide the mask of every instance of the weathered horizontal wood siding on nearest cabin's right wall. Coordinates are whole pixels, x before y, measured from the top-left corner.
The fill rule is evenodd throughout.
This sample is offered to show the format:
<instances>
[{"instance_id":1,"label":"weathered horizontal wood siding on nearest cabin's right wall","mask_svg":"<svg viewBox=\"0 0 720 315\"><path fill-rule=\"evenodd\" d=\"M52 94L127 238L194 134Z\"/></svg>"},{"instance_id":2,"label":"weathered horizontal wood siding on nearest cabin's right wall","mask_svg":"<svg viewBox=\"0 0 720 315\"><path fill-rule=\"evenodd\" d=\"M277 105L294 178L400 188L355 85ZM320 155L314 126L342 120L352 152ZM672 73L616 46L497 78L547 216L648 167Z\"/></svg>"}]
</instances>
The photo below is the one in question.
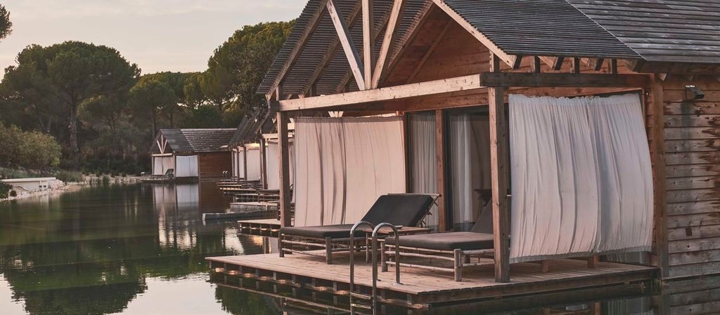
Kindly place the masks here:
<instances>
[{"instance_id":1,"label":"weathered horizontal wood siding on nearest cabin's right wall","mask_svg":"<svg viewBox=\"0 0 720 315\"><path fill-rule=\"evenodd\" d=\"M705 92L684 101L684 86ZM670 278L720 273L720 82L663 84Z\"/></svg>"}]
</instances>

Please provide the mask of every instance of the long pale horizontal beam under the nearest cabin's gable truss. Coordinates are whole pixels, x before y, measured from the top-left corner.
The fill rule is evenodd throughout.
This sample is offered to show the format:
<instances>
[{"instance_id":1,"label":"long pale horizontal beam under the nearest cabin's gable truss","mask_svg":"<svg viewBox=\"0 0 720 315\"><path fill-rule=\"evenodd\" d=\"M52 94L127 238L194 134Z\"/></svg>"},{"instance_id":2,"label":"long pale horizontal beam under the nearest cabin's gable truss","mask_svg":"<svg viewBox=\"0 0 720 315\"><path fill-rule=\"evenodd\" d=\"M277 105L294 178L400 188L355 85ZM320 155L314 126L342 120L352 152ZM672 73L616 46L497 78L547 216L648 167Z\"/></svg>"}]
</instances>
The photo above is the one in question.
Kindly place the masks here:
<instances>
[{"instance_id":1,"label":"long pale horizontal beam under the nearest cabin's gable truss","mask_svg":"<svg viewBox=\"0 0 720 315\"><path fill-rule=\"evenodd\" d=\"M374 90L313 96L306 97L305 99L273 101L271 105L278 111L326 109L333 106L361 104L375 101L390 101L415 96L441 94L454 91L467 91L478 88L484 87L480 85L480 76L474 74L436 81L410 83L402 86L376 88Z\"/></svg>"}]
</instances>

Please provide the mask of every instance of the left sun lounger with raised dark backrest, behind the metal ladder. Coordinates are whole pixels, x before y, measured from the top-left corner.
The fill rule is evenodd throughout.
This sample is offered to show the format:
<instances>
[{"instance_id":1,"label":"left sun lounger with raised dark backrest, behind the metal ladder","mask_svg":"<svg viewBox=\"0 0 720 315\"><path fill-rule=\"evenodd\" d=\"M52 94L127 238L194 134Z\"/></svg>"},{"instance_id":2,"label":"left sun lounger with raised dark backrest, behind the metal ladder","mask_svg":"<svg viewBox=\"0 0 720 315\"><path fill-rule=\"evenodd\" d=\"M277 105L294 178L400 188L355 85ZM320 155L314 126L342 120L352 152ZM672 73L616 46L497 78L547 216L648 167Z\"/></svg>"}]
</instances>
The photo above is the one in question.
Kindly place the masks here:
<instances>
[{"instance_id":1,"label":"left sun lounger with raised dark backrest, behind the metal ladder","mask_svg":"<svg viewBox=\"0 0 720 315\"><path fill-rule=\"evenodd\" d=\"M380 196L361 221L377 225L382 222L396 226L415 227L435 204L437 196L420 193L392 193ZM348 252L346 244L353 224L336 224L317 227L283 227L278 237L279 255L300 253L324 256L333 263L333 252ZM354 237L363 237L356 231ZM323 249L325 250L323 252Z\"/></svg>"}]
</instances>

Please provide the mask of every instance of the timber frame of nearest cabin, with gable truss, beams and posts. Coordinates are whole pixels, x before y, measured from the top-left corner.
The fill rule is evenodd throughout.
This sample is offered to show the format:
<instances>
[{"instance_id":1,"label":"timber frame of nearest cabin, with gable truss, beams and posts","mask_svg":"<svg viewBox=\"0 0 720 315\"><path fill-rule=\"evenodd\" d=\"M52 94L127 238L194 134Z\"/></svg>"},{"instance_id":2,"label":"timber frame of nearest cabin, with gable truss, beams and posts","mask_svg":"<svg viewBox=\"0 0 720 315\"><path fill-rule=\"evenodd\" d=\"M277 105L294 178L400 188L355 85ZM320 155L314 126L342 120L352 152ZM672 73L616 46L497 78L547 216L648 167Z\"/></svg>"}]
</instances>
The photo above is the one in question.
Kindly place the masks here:
<instances>
[{"instance_id":1,"label":"timber frame of nearest cabin, with gable truss, beams and posts","mask_svg":"<svg viewBox=\"0 0 720 315\"><path fill-rule=\"evenodd\" d=\"M523 93L531 96L582 96L621 91L642 91L648 138L653 165L655 236L652 257L654 265L662 275L668 274L667 260L667 201L665 190L665 146L663 126L663 86L666 73L683 71L706 73L716 68L698 68L697 65L676 65L667 62L653 62L637 55L629 48L618 46L617 50L600 51L585 47L585 41L577 38L577 47L572 40L557 44L549 42L544 49L539 44L520 43L512 40L503 45L497 38L507 38L492 32L481 32L477 24L467 17L476 1L427 1L413 15L413 22L402 19L408 0L390 1L387 12L374 10L372 0L352 1L351 10L341 14L339 0L312 0L314 10L306 8L303 27L294 31L294 46L279 62L271 76L271 84L265 88L271 109L276 111L279 137L279 165L281 178L282 224L290 224L289 216L289 161L288 132L289 117L315 111L346 111L346 113L368 114L379 112L436 111L438 139L438 184L439 193L445 195L444 172L444 109L487 104L490 113L490 156L492 170L492 218L494 227L495 280L508 282L509 274L509 211L508 211L508 134L506 132L505 103L508 93ZM351 2L351 1L346 1ZM413 2L413 1L410 1ZM492 1L489 1L492 2ZM564 2L564 1L563 1ZM452 5L450 5L451 3ZM308 6L310 6L310 4ZM478 4L479 5L479 4ZM564 8L564 7L563 7ZM312 9L312 8L311 8ZM562 9L562 8L561 8ZM572 6L564 8L572 10ZM568 11L570 12L570 11ZM556 12L546 12L556 14ZM559 12L558 14L562 14ZM330 42L319 59L320 65L298 83L297 91L283 91L284 83L292 80L289 73L301 55L309 47L311 37L321 29L323 17L330 17L336 40ZM498 18L499 19L499 18ZM577 17L582 21L582 17ZM588 21L592 22L589 18ZM594 24L594 22L593 22ZM521 25L522 26L522 25ZM502 27L499 27L502 29ZM384 30L384 32L382 32ZM354 32L361 31L362 43L356 45ZM605 32L591 29L592 32ZM531 33L525 29L523 32ZM568 31L570 32L570 31ZM323 33L323 35L328 35ZM492 33L492 34L490 34ZM490 34L490 35L488 35ZM291 35L292 36L292 35ZM595 36L595 35L593 35ZM357 36L356 36L357 37ZM613 37L614 38L614 37ZM469 40L471 39L471 40ZM468 41L466 41L468 40ZM472 66L461 67L453 63L457 55L445 55L449 50L444 45L454 42L456 50L472 54ZM619 40L618 40L619 42ZM620 44L622 44L620 42ZM513 46L515 45L515 46ZM507 48L505 46L511 46ZM358 47L361 47L360 49ZM418 48L422 47L422 49ZM519 47L519 48L518 48ZM523 48L524 47L524 48ZM440 49L444 49L441 50ZM525 49L523 53L518 49ZM310 51L317 53L317 51ZM330 68L338 56L344 58L346 72L340 77L336 93L318 92L317 86L323 71ZM436 60L450 60L450 65ZM459 62L457 62L459 63ZM715 66L713 66L715 67ZM455 73L458 76L449 76ZM433 78L424 80L424 78ZM354 82L354 84L351 84ZM440 229L446 230L444 206L440 206Z\"/></svg>"}]
</instances>

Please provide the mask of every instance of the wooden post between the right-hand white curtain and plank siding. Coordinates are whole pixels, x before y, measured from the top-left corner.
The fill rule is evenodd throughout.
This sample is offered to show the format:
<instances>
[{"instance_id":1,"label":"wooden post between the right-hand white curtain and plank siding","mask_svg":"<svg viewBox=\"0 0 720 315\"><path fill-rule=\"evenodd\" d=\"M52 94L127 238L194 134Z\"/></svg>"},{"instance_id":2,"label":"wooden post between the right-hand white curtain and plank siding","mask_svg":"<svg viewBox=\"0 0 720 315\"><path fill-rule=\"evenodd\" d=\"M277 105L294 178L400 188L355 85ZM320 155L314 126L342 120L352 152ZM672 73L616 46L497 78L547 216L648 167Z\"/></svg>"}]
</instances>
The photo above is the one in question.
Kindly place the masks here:
<instances>
[{"instance_id":1,"label":"wooden post between the right-hand white curtain and plank siding","mask_svg":"<svg viewBox=\"0 0 720 315\"><path fill-rule=\"evenodd\" d=\"M654 187L654 222L655 222L655 252L657 267L660 268L661 278L670 276L670 263L667 247L667 191L665 188L665 109L663 101L662 82L652 76L650 81L648 111L652 115L650 129L652 134L652 147L650 160L652 160L652 186Z\"/></svg>"}]
</instances>

